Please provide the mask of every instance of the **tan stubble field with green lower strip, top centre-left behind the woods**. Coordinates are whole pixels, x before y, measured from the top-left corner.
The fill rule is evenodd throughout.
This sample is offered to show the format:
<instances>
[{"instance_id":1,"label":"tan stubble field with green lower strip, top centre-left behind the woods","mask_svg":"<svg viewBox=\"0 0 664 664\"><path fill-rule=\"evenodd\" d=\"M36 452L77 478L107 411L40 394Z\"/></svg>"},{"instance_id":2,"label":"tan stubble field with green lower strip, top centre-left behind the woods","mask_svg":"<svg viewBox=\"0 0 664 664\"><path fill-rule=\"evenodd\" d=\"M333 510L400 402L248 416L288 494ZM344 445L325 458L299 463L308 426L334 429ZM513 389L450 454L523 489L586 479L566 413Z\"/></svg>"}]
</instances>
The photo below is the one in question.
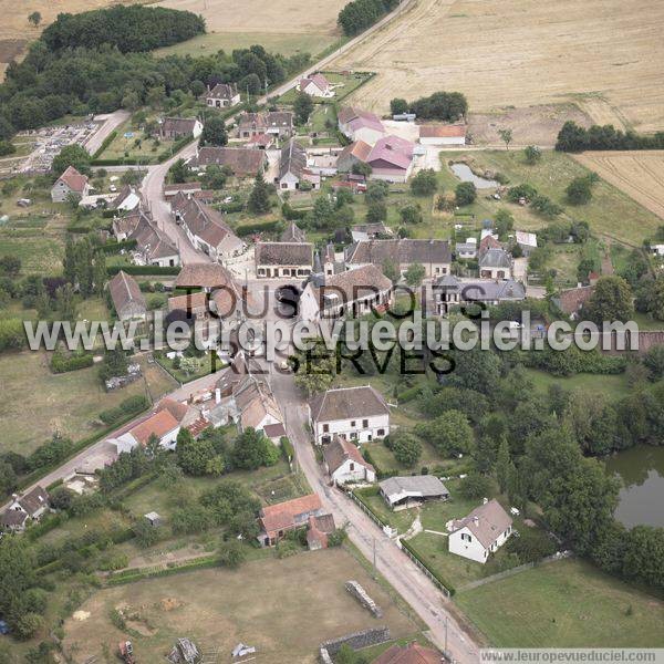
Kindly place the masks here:
<instances>
[{"instance_id":1,"label":"tan stubble field with green lower strip, top centre-left behind the woods","mask_svg":"<svg viewBox=\"0 0 664 664\"><path fill-rule=\"evenodd\" d=\"M205 55L219 49L261 44L267 51L290 55L320 53L340 38L336 15L346 0L165 0L159 4L200 14L208 34L160 49L158 53Z\"/></svg>"}]
</instances>

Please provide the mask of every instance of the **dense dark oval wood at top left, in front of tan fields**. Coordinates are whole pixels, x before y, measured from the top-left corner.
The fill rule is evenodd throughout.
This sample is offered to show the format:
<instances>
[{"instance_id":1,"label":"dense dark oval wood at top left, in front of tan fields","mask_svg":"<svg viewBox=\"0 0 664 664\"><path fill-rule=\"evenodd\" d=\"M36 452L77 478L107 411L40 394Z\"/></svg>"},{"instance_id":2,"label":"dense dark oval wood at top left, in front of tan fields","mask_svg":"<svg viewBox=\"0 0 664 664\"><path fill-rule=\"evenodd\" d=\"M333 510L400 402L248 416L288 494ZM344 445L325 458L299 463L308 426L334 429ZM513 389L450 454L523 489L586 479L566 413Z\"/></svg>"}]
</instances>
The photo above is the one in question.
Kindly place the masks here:
<instances>
[{"instance_id":1,"label":"dense dark oval wood at top left, in front of tan fields","mask_svg":"<svg viewBox=\"0 0 664 664\"><path fill-rule=\"evenodd\" d=\"M40 39L51 51L107 44L128 53L168 46L204 32L205 20L190 11L116 4L77 14L58 14Z\"/></svg>"}]
</instances>

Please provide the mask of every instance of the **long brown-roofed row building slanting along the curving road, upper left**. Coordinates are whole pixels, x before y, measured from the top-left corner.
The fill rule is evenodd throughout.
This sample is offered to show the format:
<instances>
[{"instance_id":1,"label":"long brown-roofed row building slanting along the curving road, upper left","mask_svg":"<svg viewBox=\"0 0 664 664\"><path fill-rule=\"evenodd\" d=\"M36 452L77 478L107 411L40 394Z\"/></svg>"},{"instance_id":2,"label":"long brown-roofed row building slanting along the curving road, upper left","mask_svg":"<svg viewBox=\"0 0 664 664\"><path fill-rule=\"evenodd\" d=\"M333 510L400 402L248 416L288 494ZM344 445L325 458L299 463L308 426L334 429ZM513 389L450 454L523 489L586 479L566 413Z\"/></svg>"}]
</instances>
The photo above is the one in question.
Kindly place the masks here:
<instances>
[{"instance_id":1,"label":"long brown-roofed row building slanting along the curving road, upper left","mask_svg":"<svg viewBox=\"0 0 664 664\"><path fill-rule=\"evenodd\" d=\"M240 255L245 249L242 240L210 206L179 193L173 199L170 207L175 220L183 226L191 245L212 260L224 262Z\"/></svg>"}]
</instances>

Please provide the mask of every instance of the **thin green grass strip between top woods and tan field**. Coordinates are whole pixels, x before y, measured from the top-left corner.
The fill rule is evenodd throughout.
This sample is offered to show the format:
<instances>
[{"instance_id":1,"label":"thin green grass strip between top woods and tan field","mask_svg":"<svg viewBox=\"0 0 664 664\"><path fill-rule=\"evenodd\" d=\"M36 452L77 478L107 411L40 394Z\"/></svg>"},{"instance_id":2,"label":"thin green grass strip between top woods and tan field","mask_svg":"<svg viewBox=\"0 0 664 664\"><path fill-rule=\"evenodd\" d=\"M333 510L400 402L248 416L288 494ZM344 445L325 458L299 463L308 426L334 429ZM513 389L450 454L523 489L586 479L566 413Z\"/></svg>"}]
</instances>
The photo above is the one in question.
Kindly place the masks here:
<instances>
[{"instance_id":1,"label":"thin green grass strip between top woods and tan field","mask_svg":"<svg viewBox=\"0 0 664 664\"><path fill-rule=\"evenodd\" d=\"M155 51L157 56L211 55L219 50L230 53L235 49L248 49L261 44L266 51L292 55L311 53L317 55L331 46L338 38L332 34L270 33L270 32L208 32L173 46Z\"/></svg>"}]
</instances>

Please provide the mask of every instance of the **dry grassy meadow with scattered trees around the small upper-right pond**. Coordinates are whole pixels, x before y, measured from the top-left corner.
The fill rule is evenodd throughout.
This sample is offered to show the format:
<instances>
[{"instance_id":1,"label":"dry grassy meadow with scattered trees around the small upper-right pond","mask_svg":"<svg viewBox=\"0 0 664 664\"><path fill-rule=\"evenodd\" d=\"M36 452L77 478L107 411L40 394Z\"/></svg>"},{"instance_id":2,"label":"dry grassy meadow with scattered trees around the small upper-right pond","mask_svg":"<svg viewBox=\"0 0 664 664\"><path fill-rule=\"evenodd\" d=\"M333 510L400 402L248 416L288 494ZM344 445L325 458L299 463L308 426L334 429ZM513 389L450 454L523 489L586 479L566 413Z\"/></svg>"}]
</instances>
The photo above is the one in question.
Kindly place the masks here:
<instances>
[{"instance_id":1,"label":"dry grassy meadow with scattered trees around the small upper-right pond","mask_svg":"<svg viewBox=\"0 0 664 664\"><path fill-rule=\"evenodd\" d=\"M458 159L459 156L459 153L442 154L444 169L447 172L445 179L450 184L447 190L454 189L459 181L448 169L447 162L450 158ZM605 235L640 247L643 239L652 237L661 225L661 220L653 212L604 180L600 180L593 187L593 197L588 205L569 205L564 194L566 187L574 177L585 176L590 172L563 153L543 151L541 162L535 166L526 164L522 151L483 151L468 156L479 169L488 168L507 176L508 186L520 183L533 185L539 193L563 206L570 218L588 221L598 236ZM478 197L474 206L469 206L469 210L475 211L480 219L490 218L501 206L513 214L518 229L537 229L548 224L547 219L533 215L527 208L507 201L486 199L483 196Z\"/></svg>"}]
</instances>

